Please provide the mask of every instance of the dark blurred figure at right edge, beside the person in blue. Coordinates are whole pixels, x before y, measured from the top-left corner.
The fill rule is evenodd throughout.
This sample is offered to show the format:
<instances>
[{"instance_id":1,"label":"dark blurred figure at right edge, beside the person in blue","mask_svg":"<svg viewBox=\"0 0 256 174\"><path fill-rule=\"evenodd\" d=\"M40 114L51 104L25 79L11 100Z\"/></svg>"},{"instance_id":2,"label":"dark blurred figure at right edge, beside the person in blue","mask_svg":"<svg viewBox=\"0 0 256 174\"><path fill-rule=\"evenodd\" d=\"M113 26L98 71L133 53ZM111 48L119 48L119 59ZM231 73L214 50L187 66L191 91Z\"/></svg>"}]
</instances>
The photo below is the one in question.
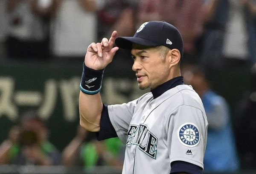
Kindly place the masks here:
<instances>
[{"instance_id":1,"label":"dark blurred figure at right edge, beside the person in blue","mask_svg":"<svg viewBox=\"0 0 256 174\"><path fill-rule=\"evenodd\" d=\"M256 170L256 63L250 70L250 90L244 93L236 109L234 131L241 169Z\"/></svg>"}]
</instances>

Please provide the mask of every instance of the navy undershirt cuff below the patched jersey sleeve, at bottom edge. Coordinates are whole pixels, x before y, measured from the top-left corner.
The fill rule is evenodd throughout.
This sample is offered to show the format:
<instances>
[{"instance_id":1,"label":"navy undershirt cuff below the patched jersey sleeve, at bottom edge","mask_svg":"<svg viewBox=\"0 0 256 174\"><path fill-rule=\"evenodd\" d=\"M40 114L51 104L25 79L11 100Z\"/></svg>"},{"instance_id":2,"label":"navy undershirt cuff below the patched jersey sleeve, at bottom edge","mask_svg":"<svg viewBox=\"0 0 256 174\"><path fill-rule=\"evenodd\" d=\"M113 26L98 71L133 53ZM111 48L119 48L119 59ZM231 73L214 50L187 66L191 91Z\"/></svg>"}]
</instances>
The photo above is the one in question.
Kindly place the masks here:
<instances>
[{"instance_id":1,"label":"navy undershirt cuff below the patched jersey sleeve, at bottom edge","mask_svg":"<svg viewBox=\"0 0 256 174\"><path fill-rule=\"evenodd\" d=\"M203 169L198 165L185 162L185 161L174 161L171 164L170 174L175 174L178 172L185 172L188 174L203 174Z\"/></svg>"}]
</instances>

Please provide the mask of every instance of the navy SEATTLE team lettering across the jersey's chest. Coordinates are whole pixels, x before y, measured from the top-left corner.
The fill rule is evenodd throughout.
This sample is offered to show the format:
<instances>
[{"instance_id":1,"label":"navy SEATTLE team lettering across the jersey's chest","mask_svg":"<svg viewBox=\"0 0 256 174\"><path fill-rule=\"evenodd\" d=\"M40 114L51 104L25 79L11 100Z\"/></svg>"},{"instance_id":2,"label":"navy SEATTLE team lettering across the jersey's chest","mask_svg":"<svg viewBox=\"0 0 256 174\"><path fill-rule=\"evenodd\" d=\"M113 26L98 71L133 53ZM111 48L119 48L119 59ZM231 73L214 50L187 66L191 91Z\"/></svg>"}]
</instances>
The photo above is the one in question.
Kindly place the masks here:
<instances>
[{"instance_id":1,"label":"navy SEATTLE team lettering across the jersey's chest","mask_svg":"<svg viewBox=\"0 0 256 174\"><path fill-rule=\"evenodd\" d=\"M130 125L126 145L137 145L141 151L154 159L157 158L157 140L146 125Z\"/></svg>"}]
</instances>

